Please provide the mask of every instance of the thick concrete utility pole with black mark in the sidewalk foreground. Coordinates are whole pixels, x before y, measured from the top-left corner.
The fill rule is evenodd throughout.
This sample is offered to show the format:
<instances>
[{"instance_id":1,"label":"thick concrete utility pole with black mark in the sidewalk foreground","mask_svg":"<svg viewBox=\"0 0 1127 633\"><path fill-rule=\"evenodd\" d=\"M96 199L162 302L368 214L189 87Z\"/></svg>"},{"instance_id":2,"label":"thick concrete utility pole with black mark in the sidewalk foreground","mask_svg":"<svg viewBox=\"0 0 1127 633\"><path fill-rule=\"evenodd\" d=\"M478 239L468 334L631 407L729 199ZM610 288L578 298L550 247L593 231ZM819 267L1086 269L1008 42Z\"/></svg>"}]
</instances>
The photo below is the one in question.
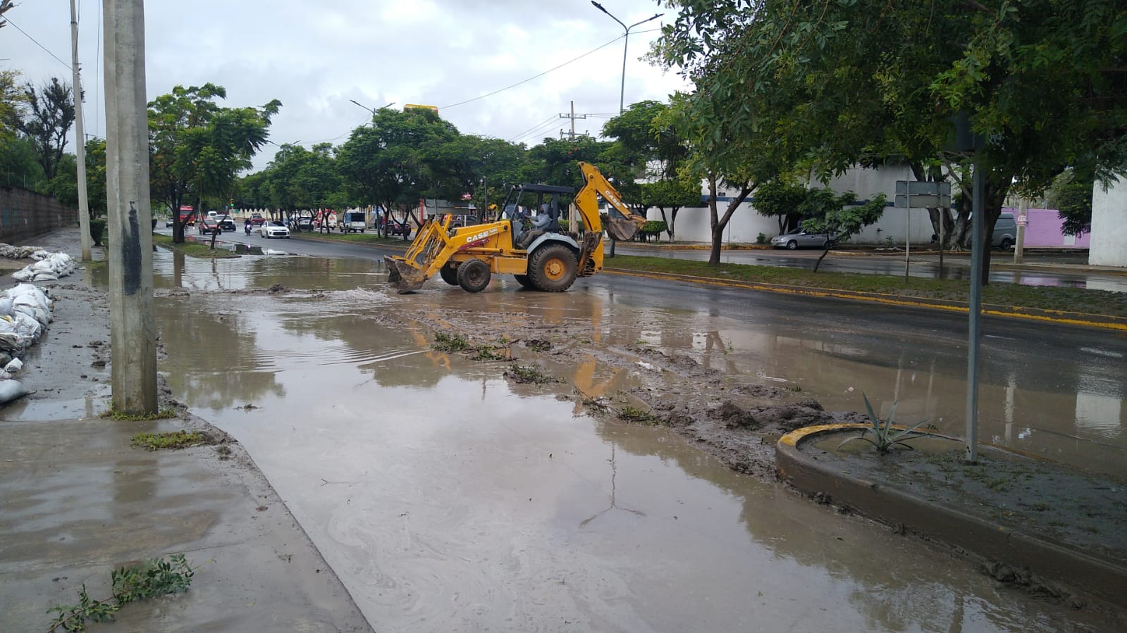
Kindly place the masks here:
<instances>
[{"instance_id":1,"label":"thick concrete utility pole with black mark in the sidewalk foreground","mask_svg":"<svg viewBox=\"0 0 1127 633\"><path fill-rule=\"evenodd\" d=\"M157 412L144 0L103 0L113 407Z\"/></svg>"}]
</instances>

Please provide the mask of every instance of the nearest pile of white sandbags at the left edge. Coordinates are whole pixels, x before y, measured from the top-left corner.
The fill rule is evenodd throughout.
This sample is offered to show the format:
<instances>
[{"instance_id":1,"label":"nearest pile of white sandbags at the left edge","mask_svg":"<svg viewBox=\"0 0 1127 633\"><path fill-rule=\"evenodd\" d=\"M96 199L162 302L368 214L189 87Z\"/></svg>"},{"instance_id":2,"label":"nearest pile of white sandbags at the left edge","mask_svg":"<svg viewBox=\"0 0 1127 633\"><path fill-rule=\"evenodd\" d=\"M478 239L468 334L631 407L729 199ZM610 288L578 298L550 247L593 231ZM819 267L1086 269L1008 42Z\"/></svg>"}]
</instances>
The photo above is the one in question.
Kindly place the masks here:
<instances>
[{"instance_id":1,"label":"nearest pile of white sandbags at the left edge","mask_svg":"<svg viewBox=\"0 0 1127 633\"><path fill-rule=\"evenodd\" d=\"M16 356L39 340L51 322L52 301L47 291L20 284L0 295L0 404L27 395L27 390L11 375L24 367Z\"/></svg>"}]
</instances>

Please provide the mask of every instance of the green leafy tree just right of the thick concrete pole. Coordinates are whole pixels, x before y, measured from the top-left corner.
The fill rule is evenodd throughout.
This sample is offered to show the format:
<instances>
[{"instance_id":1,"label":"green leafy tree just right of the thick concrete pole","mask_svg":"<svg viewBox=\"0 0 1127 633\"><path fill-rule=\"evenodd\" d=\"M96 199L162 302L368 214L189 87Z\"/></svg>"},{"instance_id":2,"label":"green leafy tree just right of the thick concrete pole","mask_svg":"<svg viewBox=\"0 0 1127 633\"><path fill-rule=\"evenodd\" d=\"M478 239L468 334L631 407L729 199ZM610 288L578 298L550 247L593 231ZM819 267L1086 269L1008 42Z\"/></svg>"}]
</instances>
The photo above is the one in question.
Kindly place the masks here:
<instances>
[{"instance_id":1,"label":"green leafy tree just right of the thick concrete pole","mask_svg":"<svg viewBox=\"0 0 1127 633\"><path fill-rule=\"evenodd\" d=\"M222 86L176 86L149 102L150 186L154 200L168 205L175 220L172 241L184 241L178 209L187 203L203 212L206 197L229 199L239 171L266 143L270 117L282 106L274 99L260 108L220 107Z\"/></svg>"}]
</instances>

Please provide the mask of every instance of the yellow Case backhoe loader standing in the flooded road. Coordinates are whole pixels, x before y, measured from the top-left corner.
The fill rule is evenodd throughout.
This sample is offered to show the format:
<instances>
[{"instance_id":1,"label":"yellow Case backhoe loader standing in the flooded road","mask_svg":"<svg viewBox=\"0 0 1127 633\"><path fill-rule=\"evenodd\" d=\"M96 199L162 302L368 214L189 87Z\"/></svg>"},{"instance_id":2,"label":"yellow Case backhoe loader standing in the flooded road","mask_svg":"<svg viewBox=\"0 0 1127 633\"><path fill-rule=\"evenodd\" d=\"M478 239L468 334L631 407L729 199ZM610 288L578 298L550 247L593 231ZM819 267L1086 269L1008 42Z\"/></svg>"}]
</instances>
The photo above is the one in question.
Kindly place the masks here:
<instances>
[{"instance_id":1,"label":"yellow Case backhoe loader standing in the flooded road","mask_svg":"<svg viewBox=\"0 0 1127 633\"><path fill-rule=\"evenodd\" d=\"M400 294L414 292L435 274L465 292L481 292L490 275L511 274L526 288L564 292L576 277L603 269L603 229L629 240L646 223L594 166L579 163L584 185L514 186L492 222L451 228L451 216L428 220L403 256L384 257L388 280ZM560 196L575 194L578 219L560 224ZM598 197L610 207L598 213ZM565 219L567 220L567 219Z\"/></svg>"}]
</instances>

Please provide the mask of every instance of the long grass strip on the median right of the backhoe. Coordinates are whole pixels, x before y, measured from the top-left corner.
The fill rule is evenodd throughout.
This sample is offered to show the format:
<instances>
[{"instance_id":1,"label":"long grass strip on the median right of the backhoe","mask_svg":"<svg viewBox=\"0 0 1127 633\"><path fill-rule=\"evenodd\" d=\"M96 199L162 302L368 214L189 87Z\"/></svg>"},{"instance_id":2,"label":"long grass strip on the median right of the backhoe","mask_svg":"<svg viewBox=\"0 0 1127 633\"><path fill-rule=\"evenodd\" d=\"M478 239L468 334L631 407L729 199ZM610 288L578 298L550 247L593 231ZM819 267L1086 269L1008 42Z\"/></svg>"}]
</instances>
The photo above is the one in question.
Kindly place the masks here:
<instances>
[{"instance_id":1,"label":"long grass strip on the median right of the backhoe","mask_svg":"<svg viewBox=\"0 0 1127 633\"><path fill-rule=\"evenodd\" d=\"M707 261L664 257L620 255L614 257L613 267L625 270L692 275L710 279L855 291L962 303L968 301L970 293L970 283L966 279L911 277L905 280L904 277L895 275L814 273L804 268L779 268L748 264L709 266ZM983 287L983 303L1127 318L1127 298L1121 293L1111 291L991 284Z\"/></svg>"}]
</instances>

